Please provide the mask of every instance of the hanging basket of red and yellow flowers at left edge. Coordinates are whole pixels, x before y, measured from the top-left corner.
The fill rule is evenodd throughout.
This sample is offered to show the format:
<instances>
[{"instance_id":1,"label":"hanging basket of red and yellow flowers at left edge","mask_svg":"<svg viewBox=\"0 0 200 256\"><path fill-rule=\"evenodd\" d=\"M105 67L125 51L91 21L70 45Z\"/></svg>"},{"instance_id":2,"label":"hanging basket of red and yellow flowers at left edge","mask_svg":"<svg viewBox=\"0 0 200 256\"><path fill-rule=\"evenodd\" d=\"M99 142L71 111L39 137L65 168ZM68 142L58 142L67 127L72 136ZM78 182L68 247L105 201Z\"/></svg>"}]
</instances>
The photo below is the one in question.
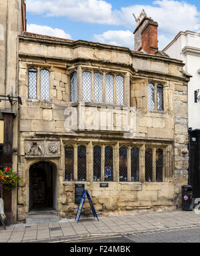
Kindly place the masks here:
<instances>
[{"instance_id":1,"label":"hanging basket of red and yellow flowers at left edge","mask_svg":"<svg viewBox=\"0 0 200 256\"><path fill-rule=\"evenodd\" d=\"M13 190L19 180L21 180L21 178L13 171L13 169L6 168L5 170L0 170L0 183L3 184L3 187L6 190Z\"/></svg>"}]
</instances>

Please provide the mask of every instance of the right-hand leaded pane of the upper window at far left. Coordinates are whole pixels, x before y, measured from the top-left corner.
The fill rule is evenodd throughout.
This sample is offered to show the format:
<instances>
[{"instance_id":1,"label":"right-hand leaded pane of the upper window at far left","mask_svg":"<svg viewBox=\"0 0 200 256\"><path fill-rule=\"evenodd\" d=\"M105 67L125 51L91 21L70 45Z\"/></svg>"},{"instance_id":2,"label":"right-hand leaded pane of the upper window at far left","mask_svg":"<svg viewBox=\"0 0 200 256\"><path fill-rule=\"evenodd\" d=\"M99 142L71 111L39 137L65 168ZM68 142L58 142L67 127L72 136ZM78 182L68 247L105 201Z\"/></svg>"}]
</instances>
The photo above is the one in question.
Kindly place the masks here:
<instances>
[{"instance_id":1,"label":"right-hand leaded pane of the upper window at far left","mask_svg":"<svg viewBox=\"0 0 200 256\"><path fill-rule=\"evenodd\" d=\"M40 72L40 98L49 100L49 71L41 70Z\"/></svg>"}]
</instances>

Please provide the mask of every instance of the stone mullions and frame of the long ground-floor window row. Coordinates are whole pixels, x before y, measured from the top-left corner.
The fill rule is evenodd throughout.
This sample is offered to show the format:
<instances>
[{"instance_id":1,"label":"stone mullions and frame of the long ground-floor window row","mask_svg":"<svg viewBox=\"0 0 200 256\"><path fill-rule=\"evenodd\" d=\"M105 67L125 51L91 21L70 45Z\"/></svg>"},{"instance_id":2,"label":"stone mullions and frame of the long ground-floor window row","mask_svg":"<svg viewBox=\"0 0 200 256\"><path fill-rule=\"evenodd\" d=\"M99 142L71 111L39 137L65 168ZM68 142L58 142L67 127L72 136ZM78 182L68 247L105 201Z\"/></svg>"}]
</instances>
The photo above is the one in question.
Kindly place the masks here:
<instances>
[{"instance_id":1,"label":"stone mullions and frame of the long ground-floor window row","mask_svg":"<svg viewBox=\"0 0 200 256\"><path fill-rule=\"evenodd\" d=\"M80 182L95 182L93 181L93 148L94 146L101 147L101 180L99 182L109 182L105 181L105 147L111 146L113 148L113 181L118 183L124 183L125 181L119 181L119 148L121 146L127 147L127 182L148 182L145 181L145 149L151 148L153 150L153 180L151 182L156 181L156 150L161 149L163 150L163 182L168 182L168 178L166 176L166 166L170 167L169 158L167 156L167 148L169 145L156 145L156 144L130 144L130 143L103 143L103 142L65 142L65 146L71 145L73 146L74 150L74 166L73 166L73 182L78 182L77 179L77 148L78 146L86 146L86 180ZM131 181L131 148L138 148L139 149L139 180ZM65 157L64 157L65 161ZM65 175L64 175L65 177ZM65 178L64 178L65 179ZM67 182L67 180L65 180ZM148 182L148 183L151 183ZM159 182L157 182L159 183Z\"/></svg>"}]
</instances>

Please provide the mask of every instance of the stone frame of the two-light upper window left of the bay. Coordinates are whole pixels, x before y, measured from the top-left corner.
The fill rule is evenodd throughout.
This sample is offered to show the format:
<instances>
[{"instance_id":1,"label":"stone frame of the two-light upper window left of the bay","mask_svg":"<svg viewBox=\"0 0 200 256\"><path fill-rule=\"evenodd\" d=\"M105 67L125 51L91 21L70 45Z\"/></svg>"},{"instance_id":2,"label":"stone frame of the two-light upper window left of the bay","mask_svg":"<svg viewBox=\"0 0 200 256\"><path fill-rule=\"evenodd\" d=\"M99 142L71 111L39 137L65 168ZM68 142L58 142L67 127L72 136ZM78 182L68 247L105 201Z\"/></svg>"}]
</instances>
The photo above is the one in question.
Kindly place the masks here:
<instances>
[{"instance_id":1,"label":"stone frame of the two-light upper window left of the bay","mask_svg":"<svg viewBox=\"0 0 200 256\"><path fill-rule=\"evenodd\" d=\"M34 69L37 70L37 85L36 85L36 94L37 98L32 99L29 98L29 70ZM42 70L47 70L49 72L49 99L48 100L41 100L41 71ZM27 66L27 87L28 87L28 95L27 99L32 100L32 101L41 101L41 102L49 102L51 100L51 67L50 66Z\"/></svg>"}]
</instances>

